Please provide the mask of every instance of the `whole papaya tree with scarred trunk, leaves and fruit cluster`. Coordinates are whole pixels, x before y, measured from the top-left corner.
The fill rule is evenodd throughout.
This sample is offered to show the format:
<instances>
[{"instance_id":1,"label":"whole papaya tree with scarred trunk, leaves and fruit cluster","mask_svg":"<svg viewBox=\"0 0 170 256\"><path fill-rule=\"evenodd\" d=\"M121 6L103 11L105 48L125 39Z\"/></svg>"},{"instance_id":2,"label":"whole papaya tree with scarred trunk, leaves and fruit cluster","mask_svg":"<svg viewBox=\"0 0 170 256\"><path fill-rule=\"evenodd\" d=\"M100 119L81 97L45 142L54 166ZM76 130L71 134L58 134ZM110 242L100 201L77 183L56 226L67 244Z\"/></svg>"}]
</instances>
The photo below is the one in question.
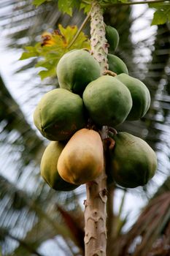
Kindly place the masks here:
<instances>
[{"instance_id":1,"label":"whole papaya tree with scarred trunk, leaves and fruit cluster","mask_svg":"<svg viewBox=\"0 0 170 256\"><path fill-rule=\"evenodd\" d=\"M42 1L34 1L34 4L42 4ZM45 138L53 140L47 147L50 153L47 153L46 148L46 155L44 153L42 157L41 170L45 172L42 174L45 181L56 190L58 186L64 191L64 185L66 189L68 186L74 189L86 184L85 255L106 255L108 183L115 184L116 181L121 187L138 187L146 184L156 169L155 153L149 145L139 138L131 138L132 135L117 133L115 130L126 119L134 121L142 118L150 108L150 92L147 87L140 80L130 77L125 63L112 54L119 41L118 33L104 24L103 12L116 4L121 3L58 1L58 7L69 15L72 15L73 7L84 7L88 12L85 22L79 30L76 27L63 29L60 26L60 30L53 34L43 35L41 47L39 44L28 47L21 57L43 57L44 60L37 64L45 68L40 72L42 78L58 77L60 88L45 94L34 112L36 127ZM159 12L163 12L161 6L158 5L158 11L155 12L155 20ZM165 7L169 7L169 3L166 2ZM168 18L168 15L167 12L165 17ZM89 19L90 43L81 32ZM153 20L153 23L162 22L160 20ZM69 37L71 33L73 37ZM85 67L83 61L88 63L88 71L82 69ZM112 109L115 110L112 112ZM92 133L91 137L89 133ZM58 148L60 143L63 143L62 148ZM125 157L121 159L122 150L127 145L129 148L126 152L130 151L131 155L126 160ZM136 147L133 148L134 145ZM138 150L140 159L138 161L135 157L134 163L134 153L137 154ZM54 159L55 153L57 157ZM121 167L124 160L125 165ZM142 164L144 166L141 167ZM140 174L136 175L134 171L138 168Z\"/></svg>"}]
</instances>

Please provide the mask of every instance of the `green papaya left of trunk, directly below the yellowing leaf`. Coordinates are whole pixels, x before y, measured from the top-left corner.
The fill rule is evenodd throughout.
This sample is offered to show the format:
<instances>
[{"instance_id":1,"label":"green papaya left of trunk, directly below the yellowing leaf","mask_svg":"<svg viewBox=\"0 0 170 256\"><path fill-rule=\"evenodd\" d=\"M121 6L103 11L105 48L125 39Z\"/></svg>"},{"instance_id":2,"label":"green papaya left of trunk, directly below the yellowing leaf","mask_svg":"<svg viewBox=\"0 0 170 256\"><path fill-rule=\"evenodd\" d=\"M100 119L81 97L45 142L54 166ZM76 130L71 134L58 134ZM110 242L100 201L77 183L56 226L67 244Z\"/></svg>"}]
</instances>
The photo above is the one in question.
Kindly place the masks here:
<instances>
[{"instance_id":1,"label":"green papaya left of trunk, directly below the yellowing leaf","mask_svg":"<svg viewBox=\"0 0 170 256\"><path fill-rule=\"evenodd\" d=\"M57 66L60 87L80 95L88 83L98 78L100 73L98 61L86 50L66 53Z\"/></svg>"}]
</instances>

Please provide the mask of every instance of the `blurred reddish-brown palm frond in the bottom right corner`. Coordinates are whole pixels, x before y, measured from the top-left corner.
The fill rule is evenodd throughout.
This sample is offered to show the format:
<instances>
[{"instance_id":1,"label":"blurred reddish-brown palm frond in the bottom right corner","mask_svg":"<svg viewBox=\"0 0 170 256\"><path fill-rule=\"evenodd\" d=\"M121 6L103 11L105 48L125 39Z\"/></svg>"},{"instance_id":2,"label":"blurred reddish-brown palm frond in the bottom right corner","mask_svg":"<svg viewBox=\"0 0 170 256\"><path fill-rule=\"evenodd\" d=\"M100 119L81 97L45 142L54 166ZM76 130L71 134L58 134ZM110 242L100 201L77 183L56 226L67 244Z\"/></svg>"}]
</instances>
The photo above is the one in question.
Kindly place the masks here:
<instances>
[{"instance_id":1,"label":"blurred reddish-brown palm frond in the bottom right corner","mask_svg":"<svg viewBox=\"0 0 170 256\"><path fill-rule=\"evenodd\" d=\"M129 252L133 256L150 255L150 251L156 250L154 247L158 243L158 239L165 239L166 241L169 238L169 195L170 193L166 192L150 201L142 211L134 227L125 235L120 255L128 255ZM170 252L168 244L163 245L161 255L164 255L165 252Z\"/></svg>"}]
</instances>

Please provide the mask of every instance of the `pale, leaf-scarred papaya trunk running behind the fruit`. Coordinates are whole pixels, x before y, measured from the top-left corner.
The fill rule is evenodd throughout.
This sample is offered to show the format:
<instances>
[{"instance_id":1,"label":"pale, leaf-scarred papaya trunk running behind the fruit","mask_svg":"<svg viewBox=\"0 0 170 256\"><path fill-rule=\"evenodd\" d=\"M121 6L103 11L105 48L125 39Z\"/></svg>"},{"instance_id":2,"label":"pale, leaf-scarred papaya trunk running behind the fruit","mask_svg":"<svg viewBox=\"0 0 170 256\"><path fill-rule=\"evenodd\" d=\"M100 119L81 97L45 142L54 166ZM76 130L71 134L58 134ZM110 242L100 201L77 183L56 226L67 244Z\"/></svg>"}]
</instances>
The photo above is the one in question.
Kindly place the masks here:
<instances>
[{"instance_id":1,"label":"pale, leaf-scarred papaya trunk running behind the fruit","mask_svg":"<svg viewBox=\"0 0 170 256\"><path fill-rule=\"evenodd\" d=\"M103 12L98 1L93 1L90 20L91 54L101 66L101 75L108 69L108 44L105 37ZM107 138L107 127L101 138ZM105 159L105 157L104 157ZM86 184L85 200L85 256L106 256L107 250L107 175L106 162L101 176Z\"/></svg>"}]
</instances>

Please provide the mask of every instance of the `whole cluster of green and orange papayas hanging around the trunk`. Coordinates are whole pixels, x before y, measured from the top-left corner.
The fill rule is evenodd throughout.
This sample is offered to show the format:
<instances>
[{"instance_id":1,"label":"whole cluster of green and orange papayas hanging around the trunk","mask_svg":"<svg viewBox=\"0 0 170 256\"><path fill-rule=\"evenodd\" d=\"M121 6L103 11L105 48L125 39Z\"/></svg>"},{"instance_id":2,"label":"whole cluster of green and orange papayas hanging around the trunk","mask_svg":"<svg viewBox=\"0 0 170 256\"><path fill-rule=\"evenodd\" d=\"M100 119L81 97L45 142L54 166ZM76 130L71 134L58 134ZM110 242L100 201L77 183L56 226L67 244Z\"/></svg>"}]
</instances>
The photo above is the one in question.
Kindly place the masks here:
<instances>
[{"instance_id":1,"label":"whole cluster of green and orange papayas hanging around the trunk","mask_svg":"<svg viewBox=\"0 0 170 256\"><path fill-rule=\"evenodd\" d=\"M113 55L119 42L117 30L106 26L107 59L111 75L101 75L98 61L87 50L71 50L58 62L60 88L47 92L34 111L34 124L52 140L41 161L41 174L53 189L69 191L93 181L104 169L99 132L88 129L89 119L99 131L125 120L142 118L150 107L150 92L128 75L125 63ZM143 186L157 166L155 152L141 138L120 132L110 134L109 183L122 187Z\"/></svg>"}]
</instances>

